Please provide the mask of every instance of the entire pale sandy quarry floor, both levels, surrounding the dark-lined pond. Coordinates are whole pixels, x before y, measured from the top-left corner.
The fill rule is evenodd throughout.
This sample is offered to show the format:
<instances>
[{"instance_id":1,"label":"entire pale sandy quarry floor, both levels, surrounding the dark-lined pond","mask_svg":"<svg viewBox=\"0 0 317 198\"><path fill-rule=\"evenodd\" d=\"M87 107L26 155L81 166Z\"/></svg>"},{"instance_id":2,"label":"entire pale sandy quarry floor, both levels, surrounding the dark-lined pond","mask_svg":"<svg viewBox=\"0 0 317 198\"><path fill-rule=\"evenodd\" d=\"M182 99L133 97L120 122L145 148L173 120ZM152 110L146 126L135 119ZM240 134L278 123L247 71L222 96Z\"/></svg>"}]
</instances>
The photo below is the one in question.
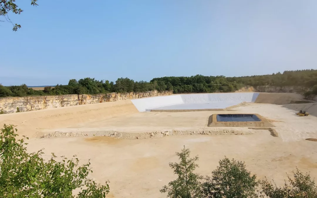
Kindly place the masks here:
<instances>
[{"instance_id":1,"label":"entire pale sandy quarry floor, both levels, surrounding the dark-lined pond","mask_svg":"<svg viewBox=\"0 0 317 198\"><path fill-rule=\"evenodd\" d=\"M98 105L103 104L86 106L97 108ZM277 185L287 179L286 172L291 173L296 167L310 171L312 178L317 178L317 142L305 140L317 138L317 117L299 117L295 111L281 105L247 103L231 112L260 114L275 125L273 128L278 137L271 136L268 130L248 127L207 127L209 116L223 111L169 113L137 112L131 109L131 112L117 112L112 118L96 111L94 116L87 114L84 120L79 118L84 111L69 109L67 111L74 111L78 119L67 119L67 115L61 113L47 115L52 110L40 110L0 115L0 124L18 125L18 133L31 137L28 150L31 152L44 148L46 159L52 152L56 156L68 158L77 155L82 163L91 159L94 179L100 183L110 181L108 197L166 197L159 189L175 179L168 163L178 162L175 152L184 145L193 156L199 155L197 172L202 175L210 176L218 161L227 156L244 161L247 169L256 174L258 179L266 176L274 179ZM40 117L40 114L46 116ZM52 132L58 134L56 131L78 133L84 137L39 138ZM109 135L114 131L130 136L123 139L93 136L103 133ZM159 136L163 131L171 131L171 134L172 131L190 131L184 134L192 135ZM211 132L207 133L210 135L196 135L194 131ZM151 132L158 132L158 135L141 135Z\"/></svg>"}]
</instances>

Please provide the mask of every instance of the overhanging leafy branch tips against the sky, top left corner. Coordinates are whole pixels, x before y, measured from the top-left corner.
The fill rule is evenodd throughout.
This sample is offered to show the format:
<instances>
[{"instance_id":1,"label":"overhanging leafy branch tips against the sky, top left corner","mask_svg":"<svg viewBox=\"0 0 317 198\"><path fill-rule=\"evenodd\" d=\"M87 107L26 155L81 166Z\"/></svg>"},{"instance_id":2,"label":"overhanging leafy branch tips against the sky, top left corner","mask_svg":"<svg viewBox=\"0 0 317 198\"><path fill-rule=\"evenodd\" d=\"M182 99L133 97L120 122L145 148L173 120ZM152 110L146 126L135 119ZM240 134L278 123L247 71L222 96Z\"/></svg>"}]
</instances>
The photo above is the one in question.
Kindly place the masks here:
<instances>
[{"instance_id":1,"label":"overhanging leafy branch tips against the sky, top left corner","mask_svg":"<svg viewBox=\"0 0 317 198\"><path fill-rule=\"evenodd\" d=\"M3 16L3 18L10 22L13 25L13 31L17 31L18 29L21 28L21 25L19 24L13 24L11 22L8 13L13 12L14 14L21 14L23 10L21 8L18 8L18 6L15 3L16 0L1 0L0 1L0 16ZM31 0L31 5L37 6L37 0ZM0 21L3 22L3 21Z\"/></svg>"}]
</instances>

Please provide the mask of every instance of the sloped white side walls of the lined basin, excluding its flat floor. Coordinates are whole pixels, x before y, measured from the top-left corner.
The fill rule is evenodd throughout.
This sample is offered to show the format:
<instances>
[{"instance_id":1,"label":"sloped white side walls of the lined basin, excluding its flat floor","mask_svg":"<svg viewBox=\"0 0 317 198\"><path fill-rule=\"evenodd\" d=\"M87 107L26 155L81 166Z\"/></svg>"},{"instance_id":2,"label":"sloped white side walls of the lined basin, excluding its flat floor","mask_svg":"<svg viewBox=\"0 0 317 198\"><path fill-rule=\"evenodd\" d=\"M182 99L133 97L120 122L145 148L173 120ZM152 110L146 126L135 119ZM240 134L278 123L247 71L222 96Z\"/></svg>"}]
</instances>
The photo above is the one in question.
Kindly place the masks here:
<instances>
[{"instance_id":1,"label":"sloped white side walls of the lined basin, excluding its flat floor","mask_svg":"<svg viewBox=\"0 0 317 198\"><path fill-rule=\"evenodd\" d=\"M217 103L217 102L255 102L259 93L198 93L180 94L171 96L158 96L151 98L131 100L139 112L150 111L153 108L197 103ZM229 104L229 103L228 103Z\"/></svg>"}]
</instances>

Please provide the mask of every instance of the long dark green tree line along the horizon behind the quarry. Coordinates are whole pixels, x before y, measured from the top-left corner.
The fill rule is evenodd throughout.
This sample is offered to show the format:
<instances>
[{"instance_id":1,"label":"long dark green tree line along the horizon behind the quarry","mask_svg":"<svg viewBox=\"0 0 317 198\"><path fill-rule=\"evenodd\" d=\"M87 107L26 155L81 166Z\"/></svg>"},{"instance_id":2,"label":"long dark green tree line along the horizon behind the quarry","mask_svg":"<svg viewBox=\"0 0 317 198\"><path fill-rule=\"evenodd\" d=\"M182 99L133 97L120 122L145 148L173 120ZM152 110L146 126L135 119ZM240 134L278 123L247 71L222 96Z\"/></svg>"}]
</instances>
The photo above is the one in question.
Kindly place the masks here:
<instances>
[{"instance_id":1,"label":"long dark green tree line along the horizon behind the quarry","mask_svg":"<svg viewBox=\"0 0 317 198\"><path fill-rule=\"evenodd\" d=\"M118 78L115 82L84 78L71 79L68 85L47 86L44 90L33 90L21 86L0 85L0 97L63 94L100 94L147 91L173 91L173 93L217 93L234 92L243 86L303 86L309 89L306 95L317 94L317 70L296 70L242 77L203 76L162 77L147 81Z\"/></svg>"}]
</instances>

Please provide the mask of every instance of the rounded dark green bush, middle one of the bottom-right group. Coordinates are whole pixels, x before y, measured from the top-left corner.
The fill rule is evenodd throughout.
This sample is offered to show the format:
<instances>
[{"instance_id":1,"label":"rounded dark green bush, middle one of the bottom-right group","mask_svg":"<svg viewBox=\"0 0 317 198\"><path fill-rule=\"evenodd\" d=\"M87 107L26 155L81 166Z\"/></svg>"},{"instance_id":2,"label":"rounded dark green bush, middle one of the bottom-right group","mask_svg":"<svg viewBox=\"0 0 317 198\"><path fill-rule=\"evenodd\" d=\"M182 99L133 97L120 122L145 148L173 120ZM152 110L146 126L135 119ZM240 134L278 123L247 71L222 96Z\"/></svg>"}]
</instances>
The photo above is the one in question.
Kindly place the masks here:
<instances>
[{"instance_id":1,"label":"rounded dark green bush, middle one of the bottom-right group","mask_svg":"<svg viewBox=\"0 0 317 198\"><path fill-rule=\"evenodd\" d=\"M258 197L256 175L251 175L244 162L225 157L219 161L212 176L204 182L204 197L206 198L252 198Z\"/></svg>"}]
</instances>

